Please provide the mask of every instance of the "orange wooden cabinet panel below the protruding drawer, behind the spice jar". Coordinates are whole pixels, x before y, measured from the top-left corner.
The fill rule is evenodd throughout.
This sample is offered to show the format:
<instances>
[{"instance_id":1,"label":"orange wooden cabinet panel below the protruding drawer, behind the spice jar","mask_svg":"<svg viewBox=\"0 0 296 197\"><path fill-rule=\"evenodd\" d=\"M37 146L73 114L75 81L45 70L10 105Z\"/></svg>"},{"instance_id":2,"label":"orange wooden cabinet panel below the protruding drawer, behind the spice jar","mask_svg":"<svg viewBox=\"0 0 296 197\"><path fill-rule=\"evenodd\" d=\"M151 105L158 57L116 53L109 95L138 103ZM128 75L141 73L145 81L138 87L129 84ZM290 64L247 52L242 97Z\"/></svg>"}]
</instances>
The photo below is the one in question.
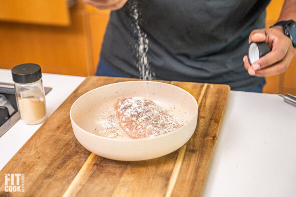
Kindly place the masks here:
<instances>
[{"instance_id":1,"label":"orange wooden cabinet panel below the protruding drawer, behind the spice jar","mask_svg":"<svg viewBox=\"0 0 296 197\"><path fill-rule=\"evenodd\" d=\"M46 73L93 75L89 14L82 2L69 13L64 27L0 22L0 68L37 63Z\"/></svg>"}]
</instances>

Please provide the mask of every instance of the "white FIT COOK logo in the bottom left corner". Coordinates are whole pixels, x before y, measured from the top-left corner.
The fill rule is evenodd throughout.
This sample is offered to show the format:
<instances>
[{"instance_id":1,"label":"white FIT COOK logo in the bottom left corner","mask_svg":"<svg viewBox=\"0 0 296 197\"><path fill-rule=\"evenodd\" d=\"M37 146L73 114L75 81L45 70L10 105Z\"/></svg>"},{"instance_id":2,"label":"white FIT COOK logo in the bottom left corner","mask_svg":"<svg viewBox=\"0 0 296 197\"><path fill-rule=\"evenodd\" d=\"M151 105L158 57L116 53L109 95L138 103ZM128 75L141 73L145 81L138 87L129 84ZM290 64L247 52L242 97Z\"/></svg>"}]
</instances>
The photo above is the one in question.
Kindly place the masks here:
<instances>
[{"instance_id":1,"label":"white FIT COOK logo in the bottom left corner","mask_svg":"<svg viewBox=\"0 0 296 197\"><path fill-rule=\"evenodd\" d=\"M5 174L5 191L24 192L25 175L24 174Z\"/></svg>"}]
</instances>

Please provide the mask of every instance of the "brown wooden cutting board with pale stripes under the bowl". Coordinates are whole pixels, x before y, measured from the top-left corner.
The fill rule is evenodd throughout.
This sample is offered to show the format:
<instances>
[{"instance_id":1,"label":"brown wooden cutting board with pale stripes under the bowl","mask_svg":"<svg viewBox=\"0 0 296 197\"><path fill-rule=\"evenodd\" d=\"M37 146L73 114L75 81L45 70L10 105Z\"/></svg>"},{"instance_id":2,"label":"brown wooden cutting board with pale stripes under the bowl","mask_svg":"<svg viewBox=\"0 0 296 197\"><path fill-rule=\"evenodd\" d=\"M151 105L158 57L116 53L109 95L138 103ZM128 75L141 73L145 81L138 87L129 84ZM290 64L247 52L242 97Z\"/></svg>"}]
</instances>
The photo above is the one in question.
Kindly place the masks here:
<instances>
[{"instance_id":1,"label":"brown wooden cutting board with pale stripes under the bowl","mask_svg":"<svg viewBox=\"0 0 296 197\"><path fill-rule=\"evenodd\" d=\"M199 105L195 133L171 154L124 162L89 152L71 127L73 102L94 88L131 80L135 79L87 77L1 170L0 195L5 189L5 174L22 173L25 191L10 193L13 196L201 196L229 86L165 82L190 92Z\"/></svg>"}]
</instances>

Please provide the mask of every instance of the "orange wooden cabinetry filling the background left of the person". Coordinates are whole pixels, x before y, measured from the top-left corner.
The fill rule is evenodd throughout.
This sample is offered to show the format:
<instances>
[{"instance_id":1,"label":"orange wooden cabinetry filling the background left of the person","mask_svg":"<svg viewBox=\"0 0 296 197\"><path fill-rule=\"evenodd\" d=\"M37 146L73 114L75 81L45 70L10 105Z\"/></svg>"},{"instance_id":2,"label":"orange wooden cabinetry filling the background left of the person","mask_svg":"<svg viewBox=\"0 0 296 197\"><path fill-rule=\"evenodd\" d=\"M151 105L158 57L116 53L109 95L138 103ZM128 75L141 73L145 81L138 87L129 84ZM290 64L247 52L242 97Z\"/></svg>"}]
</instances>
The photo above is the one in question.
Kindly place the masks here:
<instances>
[{"instance_id":1,"label":"orange wooden cabinetry filling the background left of the person","mask_svg":"<svg viewBox=\"0 0 296 197\"><path fill-rule=\"evenodd\" d=\"M40 0L39 4L31 3L29 7L32 12L37 9L37 13L44 8L44 16L32 16L25 8L28 0L23 1L20 4L15 0L0 2L0 68L11 69L22 63L37 63L46 73L94 75L110 11L99 11L83 4L82 0L71 8L65 7L66 1L49 3ZM48 7L44 6L46 4ZM56 6L56 10L52 5ZM10 11L1 13L4 8ZM56 15L56 21L52 15ZM48 18L45 19L45 16Z\"/></svg>"}]
</instances>

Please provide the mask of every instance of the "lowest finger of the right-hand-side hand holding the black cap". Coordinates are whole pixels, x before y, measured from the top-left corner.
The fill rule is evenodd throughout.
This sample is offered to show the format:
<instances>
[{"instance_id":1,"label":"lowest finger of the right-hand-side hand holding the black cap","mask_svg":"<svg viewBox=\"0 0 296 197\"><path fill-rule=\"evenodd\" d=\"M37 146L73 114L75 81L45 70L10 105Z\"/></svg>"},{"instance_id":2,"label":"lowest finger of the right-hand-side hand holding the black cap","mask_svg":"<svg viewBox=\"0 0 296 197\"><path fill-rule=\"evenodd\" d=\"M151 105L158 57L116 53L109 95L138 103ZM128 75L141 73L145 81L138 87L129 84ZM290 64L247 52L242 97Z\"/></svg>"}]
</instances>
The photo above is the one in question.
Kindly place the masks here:
<instances>
[{"instance_id":1,"label":"lowest finger of the right-hand-side hand holding the black cap","mask_svg":"<svg viewBox=\"0 0 296 197\"><path fill-rule=\"evenodd\" d=\"M248 69L248 73L252 76L257 76L257 77L268 77L268 76L273 76L277 74L283 73L287 67L289 66L293 56L296 54L295 50L293 47L289 47L288 52L286 53L286 56L279 61L278 63L264 68L262 70L253 70L251 67Z\"/></svg>"}]
</instances>

